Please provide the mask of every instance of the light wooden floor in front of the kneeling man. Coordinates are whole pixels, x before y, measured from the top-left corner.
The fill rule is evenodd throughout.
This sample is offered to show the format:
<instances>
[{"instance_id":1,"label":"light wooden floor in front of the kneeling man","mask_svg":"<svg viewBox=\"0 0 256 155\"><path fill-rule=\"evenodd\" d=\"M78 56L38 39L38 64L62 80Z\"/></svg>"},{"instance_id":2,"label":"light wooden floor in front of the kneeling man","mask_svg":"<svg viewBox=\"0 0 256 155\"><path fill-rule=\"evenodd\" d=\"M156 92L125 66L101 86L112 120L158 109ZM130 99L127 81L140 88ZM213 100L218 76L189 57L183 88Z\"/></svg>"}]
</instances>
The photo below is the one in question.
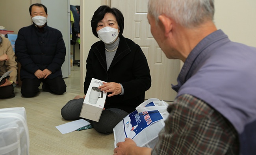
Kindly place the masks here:
<instances>
[{"instance_id":1,"label":"light wooden floor in front of the kneeling man","mask_svg":"<svg viewBox=\"0 0 256 155\"><path fill-rule=\"evenodd\" d=\"M113 155L113 133L105 135L92 128L62 134L55 127L68 122L62 119L60 110L67 101L80 94L80 67L71 67L71 75L64 80L67 92L63 95L43 92L40 87L38 96L24 98L17 86L14 98L0 99L0 108L26 109L30 155Z\"/></svg>"}]
</instances>

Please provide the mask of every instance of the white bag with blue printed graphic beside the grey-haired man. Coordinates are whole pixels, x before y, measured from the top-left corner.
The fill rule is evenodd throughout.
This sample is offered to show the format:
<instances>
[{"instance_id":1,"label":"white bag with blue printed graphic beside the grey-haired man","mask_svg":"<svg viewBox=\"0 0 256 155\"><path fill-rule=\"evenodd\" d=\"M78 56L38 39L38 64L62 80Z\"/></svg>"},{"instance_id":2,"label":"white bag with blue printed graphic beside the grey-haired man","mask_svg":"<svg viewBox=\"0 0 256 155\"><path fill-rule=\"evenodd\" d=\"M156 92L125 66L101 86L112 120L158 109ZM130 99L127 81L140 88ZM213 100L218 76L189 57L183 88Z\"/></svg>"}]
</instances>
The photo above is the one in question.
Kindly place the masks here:
<instances>
[{"instance_id":1,"label":"white bag with blue printed graphic beside the grey-haired man","mask_svg":"<svg viewBox=\"0 0 256 155\"><path fill-rule=\"evenodd\" d=\"M133 139L137 146L153 148L158 141L158 133L165 126L168 104L156 98L148 99L136 110L119 122L113 129L115 148L125 138Z\"/></svg>"}]
</instances>

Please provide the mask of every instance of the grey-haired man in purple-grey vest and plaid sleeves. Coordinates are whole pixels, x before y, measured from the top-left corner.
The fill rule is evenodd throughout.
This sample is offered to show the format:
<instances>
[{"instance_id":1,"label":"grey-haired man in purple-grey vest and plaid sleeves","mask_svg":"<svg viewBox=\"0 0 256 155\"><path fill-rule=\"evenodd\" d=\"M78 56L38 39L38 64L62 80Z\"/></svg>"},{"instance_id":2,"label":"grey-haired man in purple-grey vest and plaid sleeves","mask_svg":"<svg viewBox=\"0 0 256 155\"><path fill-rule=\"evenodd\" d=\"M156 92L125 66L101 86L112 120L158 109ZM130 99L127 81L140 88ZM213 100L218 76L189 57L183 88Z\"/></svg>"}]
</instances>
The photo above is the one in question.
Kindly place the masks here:
<instances>
[{"instance_id":1,"label":"grey-haired man in purple-grey vest and plaid sleeves","mask_svg":"<svg viewBox=\"0 0 256 155\"><path fill-rule=\"evenodd\" d=\"M230 41L213 15L214 0L149 0L152 35L184 62L178 94L154 148L126 138L114 155L256 153L256 48Z\"/></svg>"}]
</instances>

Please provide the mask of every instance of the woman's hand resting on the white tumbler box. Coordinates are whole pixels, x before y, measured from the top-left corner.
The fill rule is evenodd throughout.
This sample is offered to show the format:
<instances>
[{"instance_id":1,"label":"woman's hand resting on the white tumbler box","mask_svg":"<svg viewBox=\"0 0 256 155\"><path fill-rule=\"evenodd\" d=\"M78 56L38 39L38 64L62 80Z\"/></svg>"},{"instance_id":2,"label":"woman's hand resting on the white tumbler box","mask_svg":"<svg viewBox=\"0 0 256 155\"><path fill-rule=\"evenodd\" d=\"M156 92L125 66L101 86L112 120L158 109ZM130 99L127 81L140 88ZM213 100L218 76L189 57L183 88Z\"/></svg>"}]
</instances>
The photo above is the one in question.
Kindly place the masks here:
<instances>
[{"instance_id":1,"label":"woman's hand resting on the white tumbler box","mask_svg":"<svg viewBox=\"0 0 256 155\"><path fill-rule=\"evenodd\" d=\"M119 95L122 92L122 87L119 83L115 82L103 82L103 85L98 87L100 91L104 92L111 92L112 94L109 94L108 97Z\"/></svg>"}]
</instances>

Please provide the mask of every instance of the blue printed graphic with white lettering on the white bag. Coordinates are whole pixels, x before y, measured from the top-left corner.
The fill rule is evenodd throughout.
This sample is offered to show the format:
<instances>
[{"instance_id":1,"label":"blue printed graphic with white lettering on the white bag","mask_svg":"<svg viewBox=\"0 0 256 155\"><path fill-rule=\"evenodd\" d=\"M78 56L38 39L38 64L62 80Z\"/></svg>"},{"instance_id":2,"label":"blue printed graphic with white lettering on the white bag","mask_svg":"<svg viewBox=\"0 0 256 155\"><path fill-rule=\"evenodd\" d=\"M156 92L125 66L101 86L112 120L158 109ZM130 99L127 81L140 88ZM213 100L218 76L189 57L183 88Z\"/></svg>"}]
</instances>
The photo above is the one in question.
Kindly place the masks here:
<instances>
[{"instance_id":1,"label":"blue printed graphic with white lettering on the white bag","mask_svg":"<svg viewBox=\"0 0 256 155\"><path fill-rule=\"evenodd\" d=\"M146 105L146 107L147 106L155 106L155 104L153 102L150 102ZM150 126L152 123L163 119L162 115L158 110L145 111L141 113L138 113L137 110L135 110L134 112L130 113L128 117L130 117L130 123L129 121L126 122L126 130L124 132L126 137L129 137L128 135L131 135L131 132L135 132L135 134L132 134L134 136L130 137L132 139L142 130ZM132 125L131 128L127 128L129 124ZM127 131L127 129L130 129L130 131Z\"/></svg>"}]
</instances>

